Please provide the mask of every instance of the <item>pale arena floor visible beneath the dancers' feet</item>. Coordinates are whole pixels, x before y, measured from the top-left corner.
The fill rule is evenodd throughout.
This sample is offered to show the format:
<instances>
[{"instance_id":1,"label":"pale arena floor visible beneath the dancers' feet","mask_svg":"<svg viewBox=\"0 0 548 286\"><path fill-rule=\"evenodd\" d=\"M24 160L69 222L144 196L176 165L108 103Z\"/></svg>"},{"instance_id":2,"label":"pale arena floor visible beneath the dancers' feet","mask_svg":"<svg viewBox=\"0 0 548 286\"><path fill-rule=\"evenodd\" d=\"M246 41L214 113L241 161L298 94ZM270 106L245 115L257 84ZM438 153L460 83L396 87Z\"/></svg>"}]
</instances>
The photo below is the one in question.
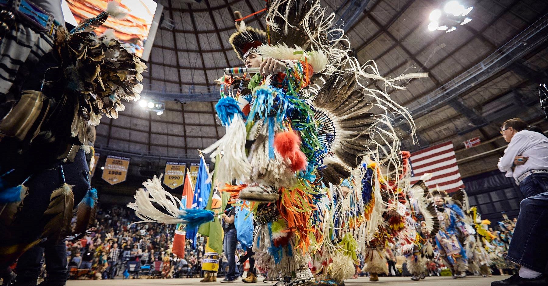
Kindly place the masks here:
<instances>
[{"instance_id":1,"label":"pale arena floor visible beneath the dancers' feet","mask_svg":"<svg viewBox=\"0 0 548 286\"><path fill-rule=\"evenodd\" d=\"M464 279L453 279L451 277L426 277L422 281L411 281L409 277L379 277L379 282L369 282L369 278L360 277L358 279L350 279L345 282L347 286L358 286L358 285L390 285L390 286L403 286L403 285L425 285L425 286L489 286L492 281L498 281L501 279L506 279L508 276L493 276L488 278L483 278L481 276L469 276ZM198 278L181 278L181 279L115 279L115 280L79 280L79 281L68 281L67 286L150 286L150 285L207 285L206 283L200 283ZM216 283L211 283L210 285L220 285L220 279ZM235 282L225 285L249 285L243 282ZM256 286L259 285L273 285L262 283L259 280L258 283L255 283Z\"/></svg>"}]
</instances>

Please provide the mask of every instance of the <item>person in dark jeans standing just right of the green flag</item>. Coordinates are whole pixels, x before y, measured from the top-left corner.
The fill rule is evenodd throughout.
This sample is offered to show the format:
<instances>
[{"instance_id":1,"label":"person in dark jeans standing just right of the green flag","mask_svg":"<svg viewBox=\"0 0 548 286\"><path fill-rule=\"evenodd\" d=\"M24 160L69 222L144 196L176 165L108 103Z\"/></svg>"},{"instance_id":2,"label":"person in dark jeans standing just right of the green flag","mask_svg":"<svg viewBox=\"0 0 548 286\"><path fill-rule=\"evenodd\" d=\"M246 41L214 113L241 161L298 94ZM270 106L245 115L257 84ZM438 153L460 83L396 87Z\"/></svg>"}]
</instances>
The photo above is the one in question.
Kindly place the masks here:
<instances>
[{"instance_id":1,"label":"person in dark jeans standing just right of the green flag","mask_svg":"<svg viewBox=\"0 0 548 286\"><path fill-rule=\"evenodd\" d=\"M236 238L236 226L234 225L234 219L236 218L236 209L228 204L225 213L222 214L224 231L225 231L225 243L224 251L226 260L229 262L229 271L225 275L225 279L221 280L221 283L232 283L239 277L238 268L236 268L236 244L238 239Z\"/></svg>"}]
</instances>

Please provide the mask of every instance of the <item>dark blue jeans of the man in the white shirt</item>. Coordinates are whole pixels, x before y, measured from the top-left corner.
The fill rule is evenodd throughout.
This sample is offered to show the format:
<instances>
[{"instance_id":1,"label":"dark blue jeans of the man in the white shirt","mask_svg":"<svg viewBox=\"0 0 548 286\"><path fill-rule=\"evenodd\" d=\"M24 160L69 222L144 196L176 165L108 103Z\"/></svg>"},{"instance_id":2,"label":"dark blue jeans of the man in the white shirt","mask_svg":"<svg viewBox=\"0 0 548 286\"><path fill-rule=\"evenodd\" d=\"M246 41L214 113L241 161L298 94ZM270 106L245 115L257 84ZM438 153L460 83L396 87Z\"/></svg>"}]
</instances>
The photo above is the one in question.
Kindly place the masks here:
<instances>
[{"instance_id":1,"label":"dark blue jeans of the man in the white shirt","mask_svg":"<svg viewBox=\"0 0 548 286\"><path fill-rule=\"evenodd\" d=\"M523 183L526 184L522 186ZM544 272L548 263L548 174L528 176L521 182L520 190L526 198L520 203L520 215L506 258Z\"/></svg>"}]
</instances>

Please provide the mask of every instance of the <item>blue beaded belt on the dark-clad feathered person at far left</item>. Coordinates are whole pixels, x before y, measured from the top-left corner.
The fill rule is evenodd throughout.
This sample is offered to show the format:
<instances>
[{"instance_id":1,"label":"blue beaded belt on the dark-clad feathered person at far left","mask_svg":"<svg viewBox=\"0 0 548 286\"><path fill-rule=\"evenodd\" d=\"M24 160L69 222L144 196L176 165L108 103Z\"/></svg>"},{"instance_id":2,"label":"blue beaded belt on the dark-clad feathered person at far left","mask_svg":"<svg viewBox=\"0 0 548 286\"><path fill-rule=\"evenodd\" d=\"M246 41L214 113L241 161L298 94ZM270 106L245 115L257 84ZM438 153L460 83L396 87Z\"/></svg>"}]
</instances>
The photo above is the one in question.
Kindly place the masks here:
<instances>
[{"instance_id":1,"label":"blue beaded belt on the dark-clad feathered person at far left","mask_svg":"<svg viewBox=\"0 0 548 286\"><path fill-rule=\"evenodd\" d=\"M28 0L0 0L0 7L3 8L0 10L3 30L9 29L10 21L13 22L16 15L38 31L53 33L53 15Z\"/></svg>"}]
</instances>

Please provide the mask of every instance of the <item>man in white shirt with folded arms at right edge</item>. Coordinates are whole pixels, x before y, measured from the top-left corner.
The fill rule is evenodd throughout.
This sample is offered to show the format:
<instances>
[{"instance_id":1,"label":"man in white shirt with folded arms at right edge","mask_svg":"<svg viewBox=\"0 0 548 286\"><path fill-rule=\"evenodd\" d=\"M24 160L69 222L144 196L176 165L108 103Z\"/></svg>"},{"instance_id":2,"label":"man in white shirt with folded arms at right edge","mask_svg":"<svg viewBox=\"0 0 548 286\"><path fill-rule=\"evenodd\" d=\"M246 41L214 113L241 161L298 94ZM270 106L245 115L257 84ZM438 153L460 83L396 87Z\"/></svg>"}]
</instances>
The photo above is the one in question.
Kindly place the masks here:
<instances>
[{"instance_id":1,"label":"man in white shirt with folded arms at right edge","mask_svg":"<svg viewBox=\"0 0 548 286\"><path fill-rule=\"evenodd\" d=\"M512 176L523 196L520 215L506 259L521 265L520 272L492 286L548 285L548 139L527 130L519 118L504 122L500 131L509 142L498 167Z\"/></svg>"}]
</instances>

